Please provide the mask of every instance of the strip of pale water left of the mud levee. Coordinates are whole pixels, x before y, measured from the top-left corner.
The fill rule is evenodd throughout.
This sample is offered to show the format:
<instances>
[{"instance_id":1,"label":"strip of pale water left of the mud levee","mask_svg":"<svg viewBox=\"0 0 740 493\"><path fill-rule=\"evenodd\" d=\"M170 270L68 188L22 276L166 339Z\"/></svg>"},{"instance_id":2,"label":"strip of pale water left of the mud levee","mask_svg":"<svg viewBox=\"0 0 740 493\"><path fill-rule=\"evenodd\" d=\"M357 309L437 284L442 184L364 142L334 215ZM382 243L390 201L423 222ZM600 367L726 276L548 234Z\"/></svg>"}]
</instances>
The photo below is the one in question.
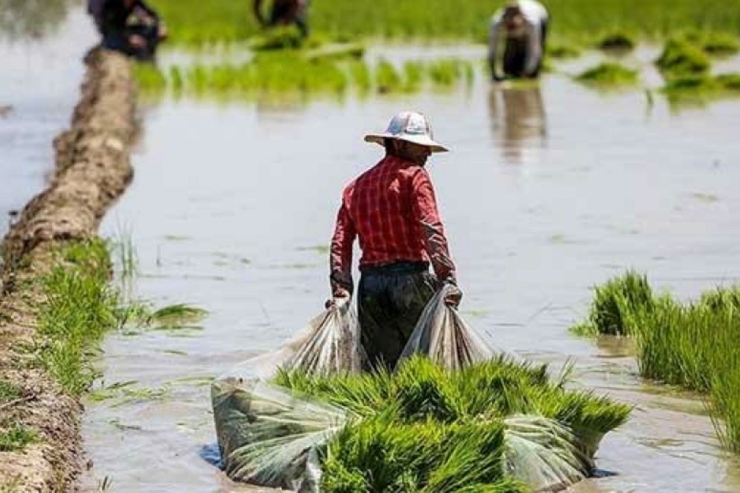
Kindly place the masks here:
<instances>
[{"instance_id":1,"label":"strip of pale water left of the mud levee","mask_svg":"<svg viewBox=\"0 0 740 493\"><path fill-rule=\"evenodd\" d=\"M0 234L7 230L8 213L41 191L54 166L52 140L68 126L84 73L82 57L95 40L81 9L67 16L61 3L36 7L56 17L38 19L32 9L16 13L12 32L0 25Z\"/></svg>"}]
</instances>

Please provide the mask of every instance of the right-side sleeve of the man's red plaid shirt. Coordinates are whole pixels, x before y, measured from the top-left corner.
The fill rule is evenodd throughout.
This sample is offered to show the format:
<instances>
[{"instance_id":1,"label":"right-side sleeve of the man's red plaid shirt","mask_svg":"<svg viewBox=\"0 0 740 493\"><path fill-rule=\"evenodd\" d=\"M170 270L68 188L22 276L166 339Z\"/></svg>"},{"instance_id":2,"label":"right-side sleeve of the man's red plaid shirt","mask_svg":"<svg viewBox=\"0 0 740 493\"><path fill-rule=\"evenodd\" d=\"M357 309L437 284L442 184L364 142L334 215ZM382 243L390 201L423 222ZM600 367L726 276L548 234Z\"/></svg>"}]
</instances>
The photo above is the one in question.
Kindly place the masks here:
<instances>
[{"instance_id":1,"label":"right-side sleeve of the man's red plaid shirt","mask_svg":"<svg viewBox=\"0 0 740 493\"><path fill-rule=\"evenodd\" d=\"M434 186L425 169L417 171L411 180L411 209L414 212L414 220L421 225L426 251L437 279L443 282L457 282L445 228L437 209Z\"/></svg>"}]
</instances>

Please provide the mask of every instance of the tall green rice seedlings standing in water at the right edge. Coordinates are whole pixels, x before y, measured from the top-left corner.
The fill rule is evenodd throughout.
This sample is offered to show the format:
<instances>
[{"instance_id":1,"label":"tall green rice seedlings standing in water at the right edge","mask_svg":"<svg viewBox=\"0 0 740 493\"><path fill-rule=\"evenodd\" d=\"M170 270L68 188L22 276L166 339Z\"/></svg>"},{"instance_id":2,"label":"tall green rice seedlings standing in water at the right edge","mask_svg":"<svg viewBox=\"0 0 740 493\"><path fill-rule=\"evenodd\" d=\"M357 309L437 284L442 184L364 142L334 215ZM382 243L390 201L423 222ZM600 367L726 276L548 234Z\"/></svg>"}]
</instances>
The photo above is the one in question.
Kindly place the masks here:
<instances>
[{"instance_id":1,"label":"tall green rice seedlings standing in water at the right edge","mask_svg":"<svg viewBox=\"0 0 740 493\"><path fill-rule=\"evenodd\" d=\"M740 452L740 288L696 302L653 296L634 272L596 288L582 332L633 336L640 374L702 392L722 445Z\"/></svg>"}]
</instances>

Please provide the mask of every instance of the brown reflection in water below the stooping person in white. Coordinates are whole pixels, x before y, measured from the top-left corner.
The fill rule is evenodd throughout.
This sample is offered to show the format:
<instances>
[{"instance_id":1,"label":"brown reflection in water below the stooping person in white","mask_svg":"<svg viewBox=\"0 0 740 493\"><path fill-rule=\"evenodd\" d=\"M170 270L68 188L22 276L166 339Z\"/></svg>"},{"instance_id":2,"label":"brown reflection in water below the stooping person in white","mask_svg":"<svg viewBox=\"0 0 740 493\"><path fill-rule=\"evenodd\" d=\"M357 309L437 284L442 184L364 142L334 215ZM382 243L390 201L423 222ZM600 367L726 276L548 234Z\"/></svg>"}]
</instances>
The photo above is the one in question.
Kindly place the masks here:
<instances>
[{"instance_id":1,"label":"brown reflection in water below the stooping person in white","mask_svg":"<svg viewBox=\"0 0 740 493\"><path fill-rule=\"evenodd\" d=\"M488 110L494 139L508 162L522 163L528 147L544 146L547 118L539 86L491 87Z\"/></svg>"}]
</instances>

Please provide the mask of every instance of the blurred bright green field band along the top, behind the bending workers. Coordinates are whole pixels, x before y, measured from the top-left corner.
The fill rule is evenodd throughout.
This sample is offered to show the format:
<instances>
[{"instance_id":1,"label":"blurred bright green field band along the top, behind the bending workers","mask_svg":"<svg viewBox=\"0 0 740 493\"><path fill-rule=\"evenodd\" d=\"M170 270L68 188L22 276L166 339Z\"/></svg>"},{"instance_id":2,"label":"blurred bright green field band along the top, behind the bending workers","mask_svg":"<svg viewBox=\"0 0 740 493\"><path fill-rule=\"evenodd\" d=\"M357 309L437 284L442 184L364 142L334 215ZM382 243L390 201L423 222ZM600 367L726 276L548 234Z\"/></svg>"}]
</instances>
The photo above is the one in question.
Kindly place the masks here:
<instances>
[{"instance_id":1,"label":"blurred bright green field band along the top, behind the bending workers","mask_svg":"<svg viewBox=\"0 0 740 493\"><path fill-rule=\"evenodd\" d=\"M171 44L243 41L260 33L250 1L152 0L172 34ZM499 1L314 0L312 29L344 38L457 38L482 41ZM740 0L549 0L556 38L593 44L610 33L660 38L689 29L740 32Z\"/></svg>"}]
</instances>

